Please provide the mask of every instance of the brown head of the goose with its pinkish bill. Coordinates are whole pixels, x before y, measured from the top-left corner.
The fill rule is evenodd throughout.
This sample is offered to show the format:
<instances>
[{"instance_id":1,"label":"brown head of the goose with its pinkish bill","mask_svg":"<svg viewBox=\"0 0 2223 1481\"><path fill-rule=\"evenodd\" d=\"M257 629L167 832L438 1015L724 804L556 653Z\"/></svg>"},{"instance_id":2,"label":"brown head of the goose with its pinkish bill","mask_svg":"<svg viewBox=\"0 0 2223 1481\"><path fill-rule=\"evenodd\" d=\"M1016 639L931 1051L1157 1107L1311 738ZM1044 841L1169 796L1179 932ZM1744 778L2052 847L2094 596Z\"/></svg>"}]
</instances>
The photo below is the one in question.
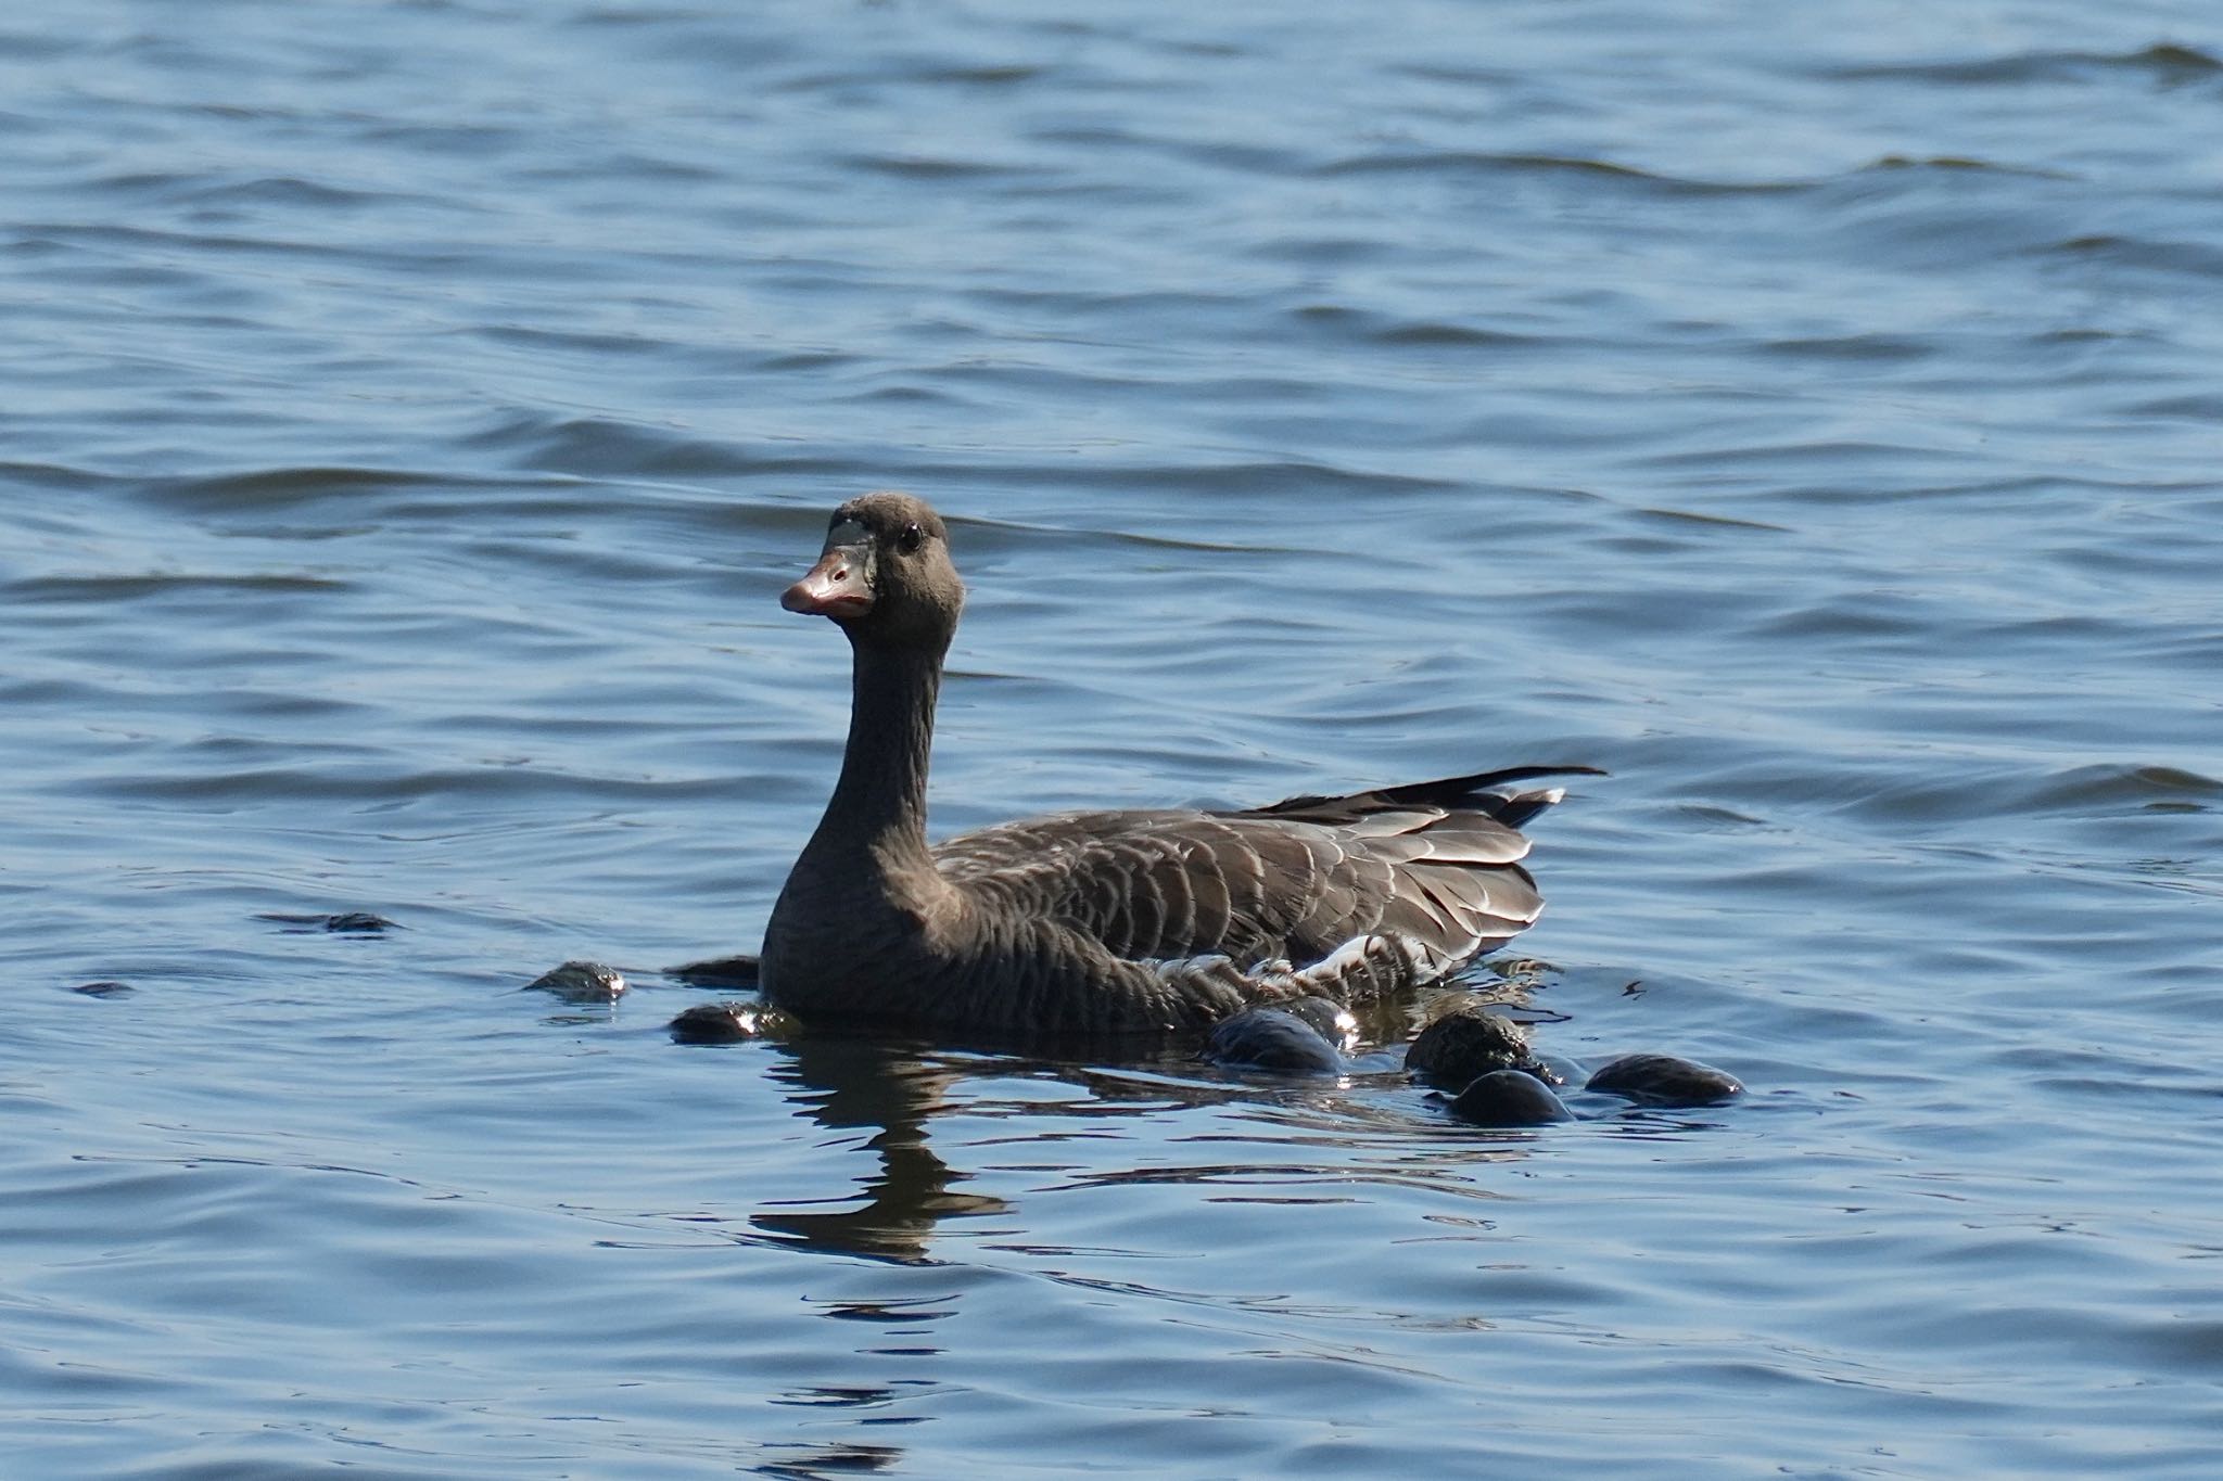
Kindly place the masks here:
<instances>
[{"instance_id":1,"label":"brown head of the goose with its pinkish bill","mask_svg":"<svg viewBox=\"0 0 2223 1481\"><path fill-rule=\"evenodd\" d=\"M965 582L925 500L867 493L834 511L818 564L780 593L780 606L831 617L851 644L940 651L956 633Z\"/></svg>"}]
</instances>

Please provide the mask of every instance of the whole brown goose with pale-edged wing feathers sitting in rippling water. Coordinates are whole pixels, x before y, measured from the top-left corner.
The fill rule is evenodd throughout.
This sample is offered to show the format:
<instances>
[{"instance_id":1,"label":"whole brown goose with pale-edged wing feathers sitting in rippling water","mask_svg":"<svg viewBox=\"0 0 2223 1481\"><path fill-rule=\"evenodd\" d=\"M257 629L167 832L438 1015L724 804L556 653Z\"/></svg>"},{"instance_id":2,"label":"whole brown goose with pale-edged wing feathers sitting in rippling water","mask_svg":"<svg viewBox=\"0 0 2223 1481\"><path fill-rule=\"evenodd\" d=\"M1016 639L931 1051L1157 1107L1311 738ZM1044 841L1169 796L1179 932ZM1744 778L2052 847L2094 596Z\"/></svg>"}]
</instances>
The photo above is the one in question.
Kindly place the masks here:
<instances>
[{"instance_id":1,"label":"whole brown goose with pale-edged wing feathers sitting in rippling water","mask_svg":"<svg viewBox=\"0 0 2223 1481\"><path fill-rule=\"evenodd\" d=\"M1254 1001L1436 981L1543 910L1512 770L1245 813L1067 813L927 844L927 757L965 584L903 493L834 511L780 606L854 653L849 748L765 928L760 981L807 1024L956 1032L1192 1028Z\"/></svg>"}]
</instances>

